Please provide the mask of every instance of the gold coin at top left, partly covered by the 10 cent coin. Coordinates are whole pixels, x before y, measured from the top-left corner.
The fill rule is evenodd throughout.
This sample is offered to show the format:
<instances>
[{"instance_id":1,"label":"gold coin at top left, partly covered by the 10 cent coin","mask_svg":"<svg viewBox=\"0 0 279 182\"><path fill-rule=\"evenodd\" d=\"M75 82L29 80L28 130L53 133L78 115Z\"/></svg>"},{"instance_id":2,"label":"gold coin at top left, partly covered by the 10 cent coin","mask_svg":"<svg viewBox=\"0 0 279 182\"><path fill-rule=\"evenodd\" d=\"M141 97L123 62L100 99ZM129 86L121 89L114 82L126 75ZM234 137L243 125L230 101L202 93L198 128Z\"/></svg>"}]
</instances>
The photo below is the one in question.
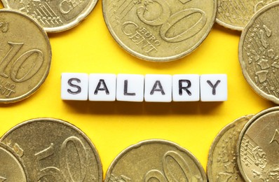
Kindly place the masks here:
<instances>
[{"instance_id":1,"label":"gold coin at top left, partly covered by the 10 cent coin","mask_svg":"<svg viewBox=\"0 0 279 182\"><path fill-rule=\"evenodd\" d=\"M95 7L97 0L2 0L5 8L26 13L47 32L70 29L81 22Z\"/></svg>"}]
</instances>

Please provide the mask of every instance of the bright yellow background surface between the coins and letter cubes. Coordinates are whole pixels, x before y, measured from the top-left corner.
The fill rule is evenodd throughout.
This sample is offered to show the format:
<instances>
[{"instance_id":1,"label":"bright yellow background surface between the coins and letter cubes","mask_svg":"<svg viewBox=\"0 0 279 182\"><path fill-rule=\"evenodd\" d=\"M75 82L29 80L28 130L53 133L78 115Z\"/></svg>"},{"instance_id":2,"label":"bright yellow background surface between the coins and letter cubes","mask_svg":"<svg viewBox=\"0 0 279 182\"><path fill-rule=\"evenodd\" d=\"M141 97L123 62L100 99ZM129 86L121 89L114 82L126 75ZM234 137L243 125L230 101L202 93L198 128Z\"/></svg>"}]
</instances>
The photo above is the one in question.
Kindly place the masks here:
<instances>
[{"instance_id":1,"label":"bright yellow background surface between the coins and letter cubes","mask_svg":"<svg viewBox=\"0 0 279 182\"><path fill-rule=\"evenodd\" d=\"M0 5L0 7L3 7ZM129 55L111 37L102 1L86 20L67 31L48 34L53 59L46 82L31 97L0 105L0 136L32 118L59 118L76 125L93 141L107 172L116 155L146 139L166 139L188 149L206 169L213 139L240 116L258 113L272 102L257 95L238 62L240 32L214 25L190 55L165 63ZM226 73L228 101L182 103L76 102L60 99L60 76L71 73Z\"/></svg>"}]
</instances>

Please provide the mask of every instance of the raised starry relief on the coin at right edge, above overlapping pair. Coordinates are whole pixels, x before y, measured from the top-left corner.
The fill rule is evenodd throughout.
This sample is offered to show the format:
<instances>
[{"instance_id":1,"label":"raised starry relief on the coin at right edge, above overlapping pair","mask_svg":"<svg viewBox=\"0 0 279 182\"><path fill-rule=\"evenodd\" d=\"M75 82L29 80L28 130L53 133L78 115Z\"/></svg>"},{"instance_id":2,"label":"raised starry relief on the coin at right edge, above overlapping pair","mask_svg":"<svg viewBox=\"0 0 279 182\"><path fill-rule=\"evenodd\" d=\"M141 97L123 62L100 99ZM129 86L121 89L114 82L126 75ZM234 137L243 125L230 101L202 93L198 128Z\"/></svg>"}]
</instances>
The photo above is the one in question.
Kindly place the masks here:
<instances>
[{"instance_id":1,"label":"raised starry relief on the coin at right edge, above overlapping pair","mask_svg":"<svg viewBox=\"0 0 279 182\"><path fill-rule=\"evenodd\" d=\"M279 57L269 44L272 41L271 36L271 29L257 20L247 34L244 48L247 50L247 63L254 71L254 83L264 92L278 97Z\"/></svg>"}]
</instances>

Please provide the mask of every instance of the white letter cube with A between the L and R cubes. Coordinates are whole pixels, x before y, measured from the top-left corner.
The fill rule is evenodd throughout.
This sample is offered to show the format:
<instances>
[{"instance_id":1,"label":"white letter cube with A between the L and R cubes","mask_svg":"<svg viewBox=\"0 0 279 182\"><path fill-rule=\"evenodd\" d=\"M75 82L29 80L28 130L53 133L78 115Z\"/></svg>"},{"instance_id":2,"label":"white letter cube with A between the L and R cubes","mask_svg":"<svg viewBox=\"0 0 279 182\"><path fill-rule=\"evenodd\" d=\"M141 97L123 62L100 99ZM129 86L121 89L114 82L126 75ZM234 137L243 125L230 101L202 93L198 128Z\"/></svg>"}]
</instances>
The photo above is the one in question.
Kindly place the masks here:
<instances>
[{"instance_id":1,"label":"white letter cube with A between the L and R cubes","mask_svg":"<svg viewBox=\"0 0 279 182\"><path fill-rule=\"evenodd\" d=\"M166 74L147 74L144 83L146 102L172 101L172 76Z\"/></svg>"}]
</instances>

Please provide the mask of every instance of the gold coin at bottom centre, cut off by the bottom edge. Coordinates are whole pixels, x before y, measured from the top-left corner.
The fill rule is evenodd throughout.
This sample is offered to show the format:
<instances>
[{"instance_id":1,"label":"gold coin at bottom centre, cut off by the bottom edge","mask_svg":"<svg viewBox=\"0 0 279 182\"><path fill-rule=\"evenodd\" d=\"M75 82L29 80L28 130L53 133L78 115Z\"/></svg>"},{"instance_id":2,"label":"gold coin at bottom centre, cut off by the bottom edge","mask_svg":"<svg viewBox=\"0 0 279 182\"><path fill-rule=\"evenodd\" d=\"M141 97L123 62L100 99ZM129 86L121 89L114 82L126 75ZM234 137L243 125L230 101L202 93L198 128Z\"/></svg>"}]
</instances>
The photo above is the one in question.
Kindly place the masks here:
<instances>
[{"instance_id":1,"label":"gold coin at bottom centre, cut off by the bottom edge","mask_svg":"<svg viewBox=\"0 0 279 182\"><path fill-rule=\"evenodd\" d=\"M203 167L186 149L164 140L126 148L111 163L105 182L207 181Z\"/></svg>"}]
</instances>

